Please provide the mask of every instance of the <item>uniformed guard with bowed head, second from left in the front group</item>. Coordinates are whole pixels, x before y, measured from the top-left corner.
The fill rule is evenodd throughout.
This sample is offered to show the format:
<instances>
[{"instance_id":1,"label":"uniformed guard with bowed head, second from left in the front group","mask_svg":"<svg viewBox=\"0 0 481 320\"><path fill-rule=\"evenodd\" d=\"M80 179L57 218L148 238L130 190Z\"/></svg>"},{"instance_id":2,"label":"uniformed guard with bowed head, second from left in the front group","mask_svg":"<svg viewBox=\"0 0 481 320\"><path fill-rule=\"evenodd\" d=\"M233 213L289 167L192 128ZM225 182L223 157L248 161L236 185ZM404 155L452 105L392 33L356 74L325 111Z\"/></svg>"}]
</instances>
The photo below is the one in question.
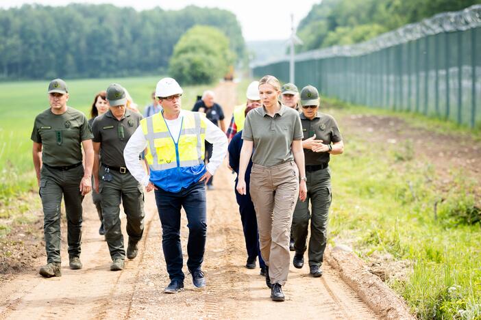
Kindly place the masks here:
<instances>
[{"instance_id":1,"label":"uniformed guard with bowed head, second from left in the front group","mask_svg":"<svg viewBox=\"0 0 481 320\"><path fill-rule=\"evenodd\" d=\"M143 188L130 174L123 159L123 149L139 126L142 116L126 109L125 89L119 84L109 85L107 101L110 105L109 111L95 118L92 125L95 152L93 174L95 189L102 198L103 228L113 261L110 270L119 271L123 269L125 261L119 217L121 200L127 215L127 258L133 259L137 256L137 243L144 231Z\"/></svg>"}]
</instances>

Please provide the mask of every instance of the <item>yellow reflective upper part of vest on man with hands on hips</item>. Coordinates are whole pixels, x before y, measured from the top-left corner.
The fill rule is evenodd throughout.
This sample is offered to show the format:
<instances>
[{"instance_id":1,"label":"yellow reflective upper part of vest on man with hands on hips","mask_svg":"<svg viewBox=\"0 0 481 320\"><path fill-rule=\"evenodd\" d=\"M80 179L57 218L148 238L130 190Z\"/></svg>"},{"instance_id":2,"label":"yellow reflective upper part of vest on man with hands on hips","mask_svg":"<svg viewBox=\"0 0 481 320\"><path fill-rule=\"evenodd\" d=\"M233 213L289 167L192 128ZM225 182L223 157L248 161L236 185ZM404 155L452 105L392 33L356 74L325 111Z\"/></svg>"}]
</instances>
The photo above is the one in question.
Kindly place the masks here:
<instances>
[{"instance_id":1,"label":"yellow reflective upper part of vest on man with hands on hips","mask_svg":"<svg viewBox=\"0 0 481 320\"><path fill-rule=\"evenodd\" d=\"M182 111L182 126L175 144L162 112L140 120L147 140L145 159L151 170L167 170L175 167L192 167L204 163L206 124L204 114Z\"/></svg>"}]
</instances>

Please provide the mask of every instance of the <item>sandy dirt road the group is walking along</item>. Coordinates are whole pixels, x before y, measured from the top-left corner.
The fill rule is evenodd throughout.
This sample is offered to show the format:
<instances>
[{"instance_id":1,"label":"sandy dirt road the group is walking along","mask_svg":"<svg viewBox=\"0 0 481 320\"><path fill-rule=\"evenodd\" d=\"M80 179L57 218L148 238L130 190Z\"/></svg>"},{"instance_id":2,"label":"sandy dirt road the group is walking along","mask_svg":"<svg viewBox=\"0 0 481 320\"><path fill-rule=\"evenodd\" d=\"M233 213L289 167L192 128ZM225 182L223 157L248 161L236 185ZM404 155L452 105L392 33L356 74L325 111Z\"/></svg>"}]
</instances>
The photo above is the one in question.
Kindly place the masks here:
<instances>
[{"instance_id":1,"label":"sandy dirt road the group is walking along","mask_svg":"<svg viewBox=\"0 0 481 320\"><path fill-rule=\"evenodd\" d=\"M217 100L230 120L236 97L233 83L217 88ZM208 192L208 241L204 261L207 286L162 293L169 282L162 254L162 231L153 194L146 195L145 237L139 255L120 272L109 271L108 248L97 233L98 219L90 197L85 200L82 262L70 270L62 246L62 277L44 279L23 274L0 287L1 319L376 319L334 269L325 264L321 278L308 276L308 267L291 266L285 286L286 302L275 303L258 269L245 269L245 242L234 197L234 176L221 166ZM123 219L125 228L125 219ZM64 230L62 230L64 231ZM65 233L65 232L64 232ZM124 232L125 234L125 232ZM182 246L188 229L182 219ZM186 258L186 257L184 257ZM38 259L38 264L44 263ZM186 268L184 267L184 272Z\"/></svg>"}]
</instances>

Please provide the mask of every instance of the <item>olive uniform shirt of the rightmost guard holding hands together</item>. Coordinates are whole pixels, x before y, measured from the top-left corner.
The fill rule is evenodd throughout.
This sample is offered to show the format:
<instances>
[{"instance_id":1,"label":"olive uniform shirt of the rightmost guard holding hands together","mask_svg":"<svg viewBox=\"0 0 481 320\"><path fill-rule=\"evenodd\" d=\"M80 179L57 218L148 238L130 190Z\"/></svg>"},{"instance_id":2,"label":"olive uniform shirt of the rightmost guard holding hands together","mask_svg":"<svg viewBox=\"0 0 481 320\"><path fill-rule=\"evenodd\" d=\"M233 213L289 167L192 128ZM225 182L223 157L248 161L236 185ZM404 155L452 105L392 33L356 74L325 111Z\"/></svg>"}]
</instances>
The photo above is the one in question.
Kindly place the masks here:
<instances>
[{"instance_id":1,"label":"olive uniform shirt of the rightmost guard holding hands together","mask_svg":"<svg viewBox=\"0 0 481 320\"><path fill-rule=\"evenodd\" d=\"M317 115L309 120L304 116L304 112L301 113L302 132L304 133L304 139L308 139L312 136L316 136L316 140L323 140L323 144L331 144L341 142L341 132L337 126L336 120L328 114L321 114L317 112ZM329 152L313 152L312 150L304 149L304 159L306 165L323 165L329 163Z\"/></svg>"}]
</instances>

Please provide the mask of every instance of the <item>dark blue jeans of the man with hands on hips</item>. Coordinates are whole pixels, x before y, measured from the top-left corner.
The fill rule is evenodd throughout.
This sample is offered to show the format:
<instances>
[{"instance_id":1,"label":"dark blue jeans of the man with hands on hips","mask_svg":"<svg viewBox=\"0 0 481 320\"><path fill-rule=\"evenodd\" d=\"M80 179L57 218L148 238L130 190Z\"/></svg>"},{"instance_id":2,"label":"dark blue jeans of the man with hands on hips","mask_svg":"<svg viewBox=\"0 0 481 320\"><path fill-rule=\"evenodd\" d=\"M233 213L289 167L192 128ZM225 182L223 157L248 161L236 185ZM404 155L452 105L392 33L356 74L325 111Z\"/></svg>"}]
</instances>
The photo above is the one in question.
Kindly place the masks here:
<instances>
[{"instance_id":1,"label":"dark blue jeans of the man with hands on hips","mask_svg":"<svg viewBox=\"0 0 481 320\"><path fill-rule=\"evenodd\" d=\"M167 272L171 280L184 281L182 247L180 245L180 210L186 211L188 242L187 267L200 269L206 250L207 216L206 187L204 182L194 183L179 192L155 191L157 209L162 224L162 249Z\"/></svg>"}]
</instances>

